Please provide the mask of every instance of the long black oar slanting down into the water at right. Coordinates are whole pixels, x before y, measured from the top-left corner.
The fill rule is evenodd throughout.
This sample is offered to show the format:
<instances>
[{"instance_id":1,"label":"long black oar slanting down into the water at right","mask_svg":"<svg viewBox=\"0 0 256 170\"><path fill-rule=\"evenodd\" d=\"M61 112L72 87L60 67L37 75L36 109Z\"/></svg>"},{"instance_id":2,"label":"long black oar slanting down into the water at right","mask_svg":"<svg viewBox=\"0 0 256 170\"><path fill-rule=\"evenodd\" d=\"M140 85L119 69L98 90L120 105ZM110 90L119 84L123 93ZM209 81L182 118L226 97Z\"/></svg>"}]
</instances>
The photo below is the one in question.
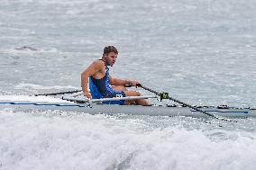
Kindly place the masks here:
<instances>
[{"instance_id":1,"label":"long black oar slanting down into the water at right","mask_svg":"<svg viewBox=\"0 0 256 170\"><path fill-rule=\"evenodd\" d=\"M153 93L153 94L159 95L159 96L160 96L160 100L162 100L162 99L169 99L169 100L174 101L174 102L176 102L176 103L183 104L183 105L185 105L185 106L187 106L187 107L189 107L189 108L191 108L191 109L194 109L194 110L196 110L197 112L202 112L202 113L204 113L204 114L206 114L206 115L208 115L208 116L210 116L210 117L213 117L213 118L215 118L215 119L217 119L217 120L221 120L221 121L233 121L233 120L225 119L225 118L222 118L222 117L218 117L218 116L216 116L216 115L214 115L214 114L211 114L211 113L209 113L209 112L205 112L205 111L203 111L203 110L201 110L201 109L198 109L197 107L192 106L192 105L190 105L190 104L188 104L188 103L184 103L184 102L181 102L181 101L179 101L179 100L177 100L177 99L174 99L174 98L170 97L169 94L166 93L166 92L160 93L160 92L157 92L157 91L155 91L155 90L152 90L151 88L146 87L146 86L141 85L141 84L140 84L140 85L137 85L137 86L140 86L140 87L142 87L143 89L145 89L145 90L147 90L147 91L149 91L149 92L151 92L151 93ZM234 122L237 122L237 121L234 121Z\"/></svg>"}]
</instances>

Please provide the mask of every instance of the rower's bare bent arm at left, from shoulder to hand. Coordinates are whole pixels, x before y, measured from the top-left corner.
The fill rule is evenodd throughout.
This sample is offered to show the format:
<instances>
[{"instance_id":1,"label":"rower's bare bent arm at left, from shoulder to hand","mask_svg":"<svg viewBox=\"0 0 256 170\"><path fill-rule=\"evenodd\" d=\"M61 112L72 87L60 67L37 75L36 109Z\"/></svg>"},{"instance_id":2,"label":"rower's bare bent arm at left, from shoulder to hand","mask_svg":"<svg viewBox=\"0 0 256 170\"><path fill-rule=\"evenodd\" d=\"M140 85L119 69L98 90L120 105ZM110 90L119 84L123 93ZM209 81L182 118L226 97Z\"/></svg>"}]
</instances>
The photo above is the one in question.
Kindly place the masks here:
<instances>
[{"instance_id":1,"label":"rower's bare bent arm at left, from shoulder to hand","mask_svg":"<svg viewBox=\"0 0 256 170\"><path fill-rule=\"evenodd\" d=\"M88 78L96 74L103 66L102 62L95 61L81 74L81 87L87 98L92 98L92 95L88 92Z\"/></svg>"}]
</instances>

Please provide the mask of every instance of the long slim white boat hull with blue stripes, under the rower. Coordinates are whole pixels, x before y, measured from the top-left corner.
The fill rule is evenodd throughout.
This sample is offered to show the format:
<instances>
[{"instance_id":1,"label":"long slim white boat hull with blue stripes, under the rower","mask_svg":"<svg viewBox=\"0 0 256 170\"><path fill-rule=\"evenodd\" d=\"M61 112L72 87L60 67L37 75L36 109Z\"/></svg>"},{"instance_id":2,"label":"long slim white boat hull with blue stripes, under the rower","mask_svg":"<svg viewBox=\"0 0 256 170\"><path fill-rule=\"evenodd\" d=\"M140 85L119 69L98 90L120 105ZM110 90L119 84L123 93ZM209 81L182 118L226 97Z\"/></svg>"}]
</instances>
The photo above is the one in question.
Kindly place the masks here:
<instances>
[{"instance_id":1,"label":"long slim white boat hull with blue stripes, under the rower","mask_svg":"<svg viewBox=\"0 0 256 170\"><path fill-rule=\"evenodd\" d=\"M12 109L19 111L53 111L62 112L85 112L89 114L129 114L129 115L150 115L150 116L192 116L206 117L202 112L197 112L187 107L169 106L140 106L140 105L114 105L114 104L87 104L87 103L45 103L45 102L14 102L0 101L0 110ZM256 117L256 110L238 108L200 108L203 111L222 117Z\"/></svg>"}]
</instances>

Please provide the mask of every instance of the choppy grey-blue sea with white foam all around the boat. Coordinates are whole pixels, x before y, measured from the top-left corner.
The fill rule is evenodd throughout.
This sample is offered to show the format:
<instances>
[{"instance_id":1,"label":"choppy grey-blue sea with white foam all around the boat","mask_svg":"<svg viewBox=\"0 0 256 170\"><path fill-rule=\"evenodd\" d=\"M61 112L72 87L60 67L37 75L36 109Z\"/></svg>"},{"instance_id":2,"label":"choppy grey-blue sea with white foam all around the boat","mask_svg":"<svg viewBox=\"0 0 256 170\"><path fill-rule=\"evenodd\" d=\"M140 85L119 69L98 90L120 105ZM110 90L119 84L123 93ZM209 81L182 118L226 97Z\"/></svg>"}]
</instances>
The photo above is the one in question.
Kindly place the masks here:
<instances>
[{"instance_id":1,"label":"choppy grey-blue sea with white foam all around the boat","mask_svg":"<svg viewBox=\"0 0 256 170\"><path fill-rule=\"evenodd\" d=\"M115 77L255 108L255 16L254 0L3 0L0 94L78 89L114 45ZM0 169L255 169L256 120L237 121L0 111Z\"/></svg>"}]
</instances>

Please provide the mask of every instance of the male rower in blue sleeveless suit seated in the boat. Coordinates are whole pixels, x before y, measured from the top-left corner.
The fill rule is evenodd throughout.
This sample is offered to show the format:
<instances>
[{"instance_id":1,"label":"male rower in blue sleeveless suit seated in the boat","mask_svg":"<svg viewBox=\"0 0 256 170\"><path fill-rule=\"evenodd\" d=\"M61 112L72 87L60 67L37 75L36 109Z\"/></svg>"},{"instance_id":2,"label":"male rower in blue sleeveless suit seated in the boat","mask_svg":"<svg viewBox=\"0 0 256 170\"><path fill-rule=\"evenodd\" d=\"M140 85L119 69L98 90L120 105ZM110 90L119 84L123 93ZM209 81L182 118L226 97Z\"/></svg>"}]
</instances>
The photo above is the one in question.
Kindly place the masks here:
<instances>
[{"instance_id":1,"label":"male rower in blue sleeveless suit seated in the boat","mask_svg":"<svg viewBox=\"0 0 256 170\"><path fill-rule=\"evenodd\" d=\"M114 46L107 46L104 49L101 59L94 61L87 69L81 74L81 86L84 95L90 99L99 98L113 98L113 97L125 97L125 96L140 96L137 91L128 91L125 85L136 86L139 82L134 80L117 79L110 76L108 71L110 67L114 66L114 62L117 58L118 51ZM88 92L87 84L89 79ZM144 99L136 100L120 100L104 102L109 104L139 104L149 105Z\"/></svg>"}]
</instances>

